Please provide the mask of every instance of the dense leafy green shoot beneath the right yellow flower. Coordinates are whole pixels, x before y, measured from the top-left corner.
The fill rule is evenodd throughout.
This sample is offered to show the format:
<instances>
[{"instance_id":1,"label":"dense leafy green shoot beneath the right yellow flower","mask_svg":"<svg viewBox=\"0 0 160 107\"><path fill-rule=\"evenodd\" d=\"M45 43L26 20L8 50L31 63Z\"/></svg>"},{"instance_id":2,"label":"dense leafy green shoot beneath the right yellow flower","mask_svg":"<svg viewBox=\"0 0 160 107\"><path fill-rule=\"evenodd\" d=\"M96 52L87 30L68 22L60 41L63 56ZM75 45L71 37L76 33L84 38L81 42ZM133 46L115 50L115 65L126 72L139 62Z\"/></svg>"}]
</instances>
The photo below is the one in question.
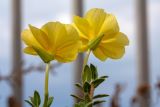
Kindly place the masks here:
<instances>
[{"instance_id":1,"label":"dense leafy green shoot beneath the right yellow flower","mask_svg":"<svg viewBox=\"0 0 160 107\"><path fill-rule=\"evenodd\" d=\"M98 77L97 68L93 64L90 64L90 66L86 65L84 67L81 78L81 83L76 83L75 86L82 91L83 96L80 97L73 94L71 95L72 97L80 101L79 103L76 103L74 107L92 107L94 105L105 102L104 100L99 99L108 97L109 95L98 94L94 96L94 91L100 84L102 84L106 80L106 78L108 78L108 76Z\"/></svg>"}]
</instances>

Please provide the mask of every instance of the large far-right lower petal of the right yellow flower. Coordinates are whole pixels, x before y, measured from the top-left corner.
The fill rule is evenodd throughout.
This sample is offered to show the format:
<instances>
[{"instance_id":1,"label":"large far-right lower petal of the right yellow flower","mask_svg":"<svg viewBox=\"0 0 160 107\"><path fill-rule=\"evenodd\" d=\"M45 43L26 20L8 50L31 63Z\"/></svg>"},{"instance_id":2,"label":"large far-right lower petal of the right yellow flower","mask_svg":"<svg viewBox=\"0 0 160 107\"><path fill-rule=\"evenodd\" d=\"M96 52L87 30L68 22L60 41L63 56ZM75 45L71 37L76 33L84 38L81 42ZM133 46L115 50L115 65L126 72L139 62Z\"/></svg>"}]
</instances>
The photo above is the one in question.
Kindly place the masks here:
<instances>
[{"instance_id":1,"label":"large far-right lower petal of the right yellow flower","mask_svg":"<svg viewBox=\"0 0 160 107\"><path fill-rule=\"evenodd\" d=\"M125 45L128 45L128 38L121 32L113 35L113 38L103 39L98 46L104 54L112 59L119 59L125 53Z\"/></svg>"}]
</instances>

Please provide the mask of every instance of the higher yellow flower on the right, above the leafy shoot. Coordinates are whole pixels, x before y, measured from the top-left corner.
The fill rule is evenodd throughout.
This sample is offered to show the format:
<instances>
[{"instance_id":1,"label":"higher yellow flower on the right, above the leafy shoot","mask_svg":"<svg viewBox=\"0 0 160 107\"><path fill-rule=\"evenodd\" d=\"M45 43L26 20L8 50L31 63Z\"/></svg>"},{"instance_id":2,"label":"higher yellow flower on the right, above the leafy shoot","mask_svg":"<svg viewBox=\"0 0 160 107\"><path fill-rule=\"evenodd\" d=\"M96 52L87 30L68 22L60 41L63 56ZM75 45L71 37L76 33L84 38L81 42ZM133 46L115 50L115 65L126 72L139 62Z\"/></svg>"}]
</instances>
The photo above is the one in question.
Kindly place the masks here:
<instances>
[{"instance_id":1,"label":"higher yellow flower on the right, above the leafy shoot","mask_svg":"<svg viewBox=\"0 0 160 107\"><path fill-rule=\"evenodd\" d=\"M119 31L114 15L103 9L89 10L83 18L74 16L74 26L80 34L82 51L91 49L100 60L119 59L129 44L125 34Z\"/></svg>"}]
</instances>

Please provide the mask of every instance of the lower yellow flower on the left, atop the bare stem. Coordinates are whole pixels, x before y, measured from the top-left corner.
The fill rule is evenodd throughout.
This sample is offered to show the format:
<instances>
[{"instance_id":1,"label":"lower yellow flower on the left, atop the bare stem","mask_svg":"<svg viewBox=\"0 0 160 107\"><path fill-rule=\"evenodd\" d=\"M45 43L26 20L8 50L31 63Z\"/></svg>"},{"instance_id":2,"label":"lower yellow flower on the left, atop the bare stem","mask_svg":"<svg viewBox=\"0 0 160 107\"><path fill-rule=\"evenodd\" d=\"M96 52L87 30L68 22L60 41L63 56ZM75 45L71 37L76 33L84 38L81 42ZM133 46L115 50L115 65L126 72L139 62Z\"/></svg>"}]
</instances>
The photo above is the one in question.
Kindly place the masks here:
<instances>
[{"instance_id":1,"label":"lower yellow flower on the left, atop the bare stem","mask_svg":"<svg viewBox=\"0 0 160 107\"><path fill-rule=\"evenodd\" d=\"M48 22L40 29L29 25L29 29L22 32L22 40L27 45L24 52L39 55L45 63L55 59L59 62L73 61L80 47L76 29L60 22Z\"/></svg>"}]
</instances>

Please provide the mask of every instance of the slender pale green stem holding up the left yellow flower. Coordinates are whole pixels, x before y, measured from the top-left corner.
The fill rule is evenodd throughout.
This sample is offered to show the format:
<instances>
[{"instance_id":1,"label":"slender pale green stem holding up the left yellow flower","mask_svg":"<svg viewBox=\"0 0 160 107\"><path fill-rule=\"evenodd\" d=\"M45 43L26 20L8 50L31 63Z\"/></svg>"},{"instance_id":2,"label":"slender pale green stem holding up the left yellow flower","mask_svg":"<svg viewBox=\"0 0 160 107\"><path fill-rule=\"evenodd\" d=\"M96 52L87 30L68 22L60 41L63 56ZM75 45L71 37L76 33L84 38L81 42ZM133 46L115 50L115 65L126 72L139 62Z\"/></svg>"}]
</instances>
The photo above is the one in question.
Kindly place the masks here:
<instances>
[{"instance_id":1,"label":"slender pale green stem holding up the left yellow flower","mask_svg":"<svg viewBox=\"0 0 160 107\"><path fill-rule=\"evenodd\" d=\"M49 80L49 67L50 63L46 64L46 71L45 71L45 84L44 84L44 104L43 107L47 107L48 101L48 80Z\"/></svg>"}]
</instances>

